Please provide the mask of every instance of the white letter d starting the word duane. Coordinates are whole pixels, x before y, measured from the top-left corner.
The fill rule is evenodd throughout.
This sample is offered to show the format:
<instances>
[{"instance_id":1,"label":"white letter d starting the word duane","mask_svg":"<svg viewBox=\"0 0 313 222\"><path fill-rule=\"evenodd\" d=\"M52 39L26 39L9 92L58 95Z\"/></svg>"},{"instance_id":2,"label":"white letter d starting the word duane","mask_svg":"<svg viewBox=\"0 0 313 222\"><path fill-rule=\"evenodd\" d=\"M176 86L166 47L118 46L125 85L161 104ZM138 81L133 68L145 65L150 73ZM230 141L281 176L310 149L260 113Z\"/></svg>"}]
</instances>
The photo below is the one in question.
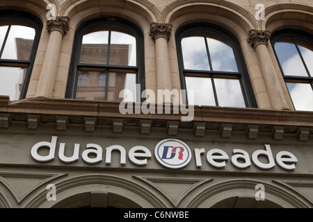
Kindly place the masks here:
<instances>
[{"instance_id":1,"label":"white letter d starting the word duane","mask_svg":"<svg viewBox=\"0 0 313 222\"><path fill-rule=\"evenodd\" d=\"M54 154L56 152L56 140L58 137L52 137L51 142L39 142L31 148L31 156L38 162L48 162L54 160ZM38 149L42 147L49 147L49 154L42 156L38 154Z\"/></svg>"}]
</instances>

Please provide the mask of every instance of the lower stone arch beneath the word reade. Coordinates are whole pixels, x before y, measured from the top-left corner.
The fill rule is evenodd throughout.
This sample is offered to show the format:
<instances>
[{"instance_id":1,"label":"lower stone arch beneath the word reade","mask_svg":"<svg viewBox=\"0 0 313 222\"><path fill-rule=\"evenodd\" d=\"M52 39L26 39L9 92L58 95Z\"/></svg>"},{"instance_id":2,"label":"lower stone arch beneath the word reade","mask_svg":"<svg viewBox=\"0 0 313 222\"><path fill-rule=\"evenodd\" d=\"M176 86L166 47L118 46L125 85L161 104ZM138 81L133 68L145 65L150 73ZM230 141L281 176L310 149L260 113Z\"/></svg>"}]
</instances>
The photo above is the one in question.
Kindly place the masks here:
<instances>
[{"instance_id":1,"label":"lower stone arch beneath the word reade","mask_svg":"<svg viewBox=\"0 0 313 222\"><path fill-rule=\"evenodd\" d=\"M258 189L255 186L264 185L265 199L269 205L284 208L310 208L312 203L293 189L283 189L260 180L236 179L218 182L195 196L187 207L214 207L221 201L230 198L255 198Z\"/></svg>"}]
</instances>

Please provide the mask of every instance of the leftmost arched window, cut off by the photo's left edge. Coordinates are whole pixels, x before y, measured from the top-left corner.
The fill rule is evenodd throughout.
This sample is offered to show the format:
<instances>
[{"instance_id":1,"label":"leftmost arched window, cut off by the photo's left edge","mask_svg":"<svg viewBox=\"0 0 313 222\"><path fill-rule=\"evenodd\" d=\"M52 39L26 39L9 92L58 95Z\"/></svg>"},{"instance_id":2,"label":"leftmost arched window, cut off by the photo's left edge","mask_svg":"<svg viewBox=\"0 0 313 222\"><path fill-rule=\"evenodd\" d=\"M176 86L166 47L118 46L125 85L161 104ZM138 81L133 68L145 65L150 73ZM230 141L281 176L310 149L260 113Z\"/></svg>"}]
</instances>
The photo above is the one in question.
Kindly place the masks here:
<instances>
[{"instance_id":1,"label":"leftmost arched window, cut off by the photo's left edge","mask_svg":"<svg viewBox=\"0 0 313 222\"><path fill-rule=\"evenodd\" d=\"M11 101L26 96L41 29L32 15L0 13L0 95Z\"/></svg>"}]
</instances>

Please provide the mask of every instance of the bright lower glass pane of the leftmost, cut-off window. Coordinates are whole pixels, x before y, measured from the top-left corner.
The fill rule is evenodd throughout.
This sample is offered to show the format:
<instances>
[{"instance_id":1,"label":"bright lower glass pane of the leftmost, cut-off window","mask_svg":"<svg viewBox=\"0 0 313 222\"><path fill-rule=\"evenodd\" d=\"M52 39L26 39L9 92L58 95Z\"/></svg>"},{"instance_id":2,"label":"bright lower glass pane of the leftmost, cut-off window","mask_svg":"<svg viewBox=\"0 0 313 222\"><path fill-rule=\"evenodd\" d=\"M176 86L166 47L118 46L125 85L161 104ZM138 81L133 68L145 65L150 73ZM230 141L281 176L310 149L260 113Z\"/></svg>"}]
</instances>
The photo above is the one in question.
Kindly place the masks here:
<instances>
[{"instance_id":1,"label":"bright lower glass pane of the leftmost, cut-off window","mask_svg":"<svg viewBox=\"0 0 313 222\"><path fill-rule=\"evenodd\" d=\"M22 67L0 67L0 95L10 96L10 101L19 100L26 71Z\"/></svg>"}]
</instances>

